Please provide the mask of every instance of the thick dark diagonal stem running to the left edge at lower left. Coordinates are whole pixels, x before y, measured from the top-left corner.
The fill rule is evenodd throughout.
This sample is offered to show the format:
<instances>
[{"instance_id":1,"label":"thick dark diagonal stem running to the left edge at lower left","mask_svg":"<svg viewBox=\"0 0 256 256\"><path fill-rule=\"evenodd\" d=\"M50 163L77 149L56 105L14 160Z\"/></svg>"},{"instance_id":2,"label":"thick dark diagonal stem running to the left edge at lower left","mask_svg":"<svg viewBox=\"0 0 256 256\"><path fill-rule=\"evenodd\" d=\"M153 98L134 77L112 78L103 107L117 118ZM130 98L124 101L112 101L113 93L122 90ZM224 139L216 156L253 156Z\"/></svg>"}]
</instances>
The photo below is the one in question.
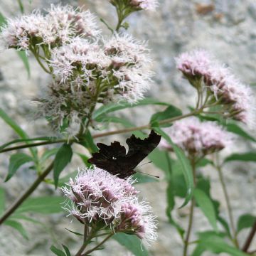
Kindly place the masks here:
<instances>
[{"instance_id":1,"label":"thick dark diagonal stem running to the left edge at lower left","mask_svg":"<svg viewBox=\"0 0 256 256\"><path fill-rule=\"evenodd\" d=\"M50 165L46 168L45 171L43 171L43 173L38 176L38 178L36 179L36 181L33 182L33 184L28 188L28 190L26 190L14 203L13 205L6 210L6 212L4 213L4 215L1 216L0 218L0 225L2 223L4 223L4 220L6 220L7 218L9 218L9 216L14 213L14 211L18 208L18 206L21 205L21 203L23 203L23 201L26 200L26 198L28 198L28 196L31 195L31 193L33 193L33 191L36 190L36 188L38 187L38 185L46 178L46 176L50 173L50 171L53 169L53 162L50 163Z\"/></svg>"}]
</instances>

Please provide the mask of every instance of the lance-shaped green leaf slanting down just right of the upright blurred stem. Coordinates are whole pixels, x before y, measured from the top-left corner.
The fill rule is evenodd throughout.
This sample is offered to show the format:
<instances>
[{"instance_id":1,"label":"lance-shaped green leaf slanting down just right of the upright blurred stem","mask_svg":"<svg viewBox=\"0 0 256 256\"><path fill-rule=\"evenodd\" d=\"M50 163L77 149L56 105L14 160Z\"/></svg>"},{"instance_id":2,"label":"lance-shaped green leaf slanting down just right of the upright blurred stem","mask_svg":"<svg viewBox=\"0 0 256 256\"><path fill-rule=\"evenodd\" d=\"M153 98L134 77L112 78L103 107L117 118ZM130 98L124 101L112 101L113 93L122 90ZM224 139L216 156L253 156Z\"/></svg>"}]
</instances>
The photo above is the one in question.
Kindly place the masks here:
<instances>
[{"instance_id":1,"label":"lance-shaped green leaf slanting down just right of the upright blurred stem","mask_svg":"<svg viewBox=\"0 0 256 256\"><path fill-rule=\"evenodd\" d=\"M206 215L206 218L208 218L210 225L212 225L213 229L216 232L218 232L215 209L214 209L213 203L210 200L210 198L207 196L207 194L205 192L203 192L199 188L196 188L193 191L193 196L196 199L196 203L203 211L204 215Z\"/></svg>"}]
</instances>

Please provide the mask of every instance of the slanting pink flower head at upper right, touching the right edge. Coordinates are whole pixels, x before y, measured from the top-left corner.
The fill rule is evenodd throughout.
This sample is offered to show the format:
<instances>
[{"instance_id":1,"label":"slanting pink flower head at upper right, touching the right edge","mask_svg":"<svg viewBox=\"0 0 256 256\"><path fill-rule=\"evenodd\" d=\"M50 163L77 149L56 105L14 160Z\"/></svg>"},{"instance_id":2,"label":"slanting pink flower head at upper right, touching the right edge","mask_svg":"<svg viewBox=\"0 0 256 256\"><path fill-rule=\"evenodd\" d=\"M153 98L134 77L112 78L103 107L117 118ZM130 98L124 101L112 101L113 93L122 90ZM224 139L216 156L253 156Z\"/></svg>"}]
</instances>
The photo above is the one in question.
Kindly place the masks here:
<instances>
[{"instance_id":1,"label":"slanting pink flower head at upper right, touching the right edge","mask_svg":"<svg viewBox=\"0 0 256 256\"><path fill-rule=\"evenodd\" d=\"M252 90L242 84L230 72L220 65L205 50L183 53L176 58L177 68L194 87L202 86L207 90L208 102L218 103L223 107L223 116L232 117L245 124L255 119L255 98Z\"/></svg>"}]
</instances>

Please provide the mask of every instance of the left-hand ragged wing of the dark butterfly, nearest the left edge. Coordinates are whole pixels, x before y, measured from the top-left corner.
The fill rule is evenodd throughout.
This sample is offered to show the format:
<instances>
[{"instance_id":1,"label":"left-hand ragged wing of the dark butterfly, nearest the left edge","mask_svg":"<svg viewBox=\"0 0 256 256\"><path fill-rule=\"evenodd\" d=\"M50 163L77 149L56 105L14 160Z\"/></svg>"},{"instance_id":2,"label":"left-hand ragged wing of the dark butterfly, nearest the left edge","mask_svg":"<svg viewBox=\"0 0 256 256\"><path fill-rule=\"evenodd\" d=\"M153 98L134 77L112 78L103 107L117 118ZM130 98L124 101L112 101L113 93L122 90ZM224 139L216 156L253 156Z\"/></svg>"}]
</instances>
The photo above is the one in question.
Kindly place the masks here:
<instances>
[{"instance_id":1,"label":"left-hand ragged wing of the dark butterfly, nearest the left edge","mask_svg":"<svg viewBox=\"0 0 256 256\"><path fill-rule=\"evenodd\" d=\"M119 142L112 142L110 146L97 143L97 147L100 149L99 152L93 153L88 162L108 171L110 174L121 174L123 171L122 162L126 155L125 147L121 146Z\"/></svg>"}]
</instances>

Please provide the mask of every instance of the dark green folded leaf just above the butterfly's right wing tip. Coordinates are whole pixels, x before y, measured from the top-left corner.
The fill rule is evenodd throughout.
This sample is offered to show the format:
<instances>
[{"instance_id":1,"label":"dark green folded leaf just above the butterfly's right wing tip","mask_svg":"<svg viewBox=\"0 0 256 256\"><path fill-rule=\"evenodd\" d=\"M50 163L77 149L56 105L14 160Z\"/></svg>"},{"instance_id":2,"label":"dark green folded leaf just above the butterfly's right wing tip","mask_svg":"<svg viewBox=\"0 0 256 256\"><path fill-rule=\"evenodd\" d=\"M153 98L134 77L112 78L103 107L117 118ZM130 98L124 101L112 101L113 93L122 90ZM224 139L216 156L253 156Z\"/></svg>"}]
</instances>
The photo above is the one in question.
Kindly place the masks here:
<instances>
[{"instance_id":1,"label":"dark green folded leaf just above the butterfly's right wing tip","mask_svg":"<svg viewBox=\"0 0 256 256\"><path fill-rule=\"evenodd\" d=\"M166 108L166 110L153 114L150 119L150 123L152 126L159 126L158 124L159 121L163 121L165 119L169 119L172 117L178 117L181 115L182 115L181 110L179 110L177 107L170 105L169 107ZM171 123L161 124L161 127L169 127L170 125Z\"/></svg>"}]
</instances>

